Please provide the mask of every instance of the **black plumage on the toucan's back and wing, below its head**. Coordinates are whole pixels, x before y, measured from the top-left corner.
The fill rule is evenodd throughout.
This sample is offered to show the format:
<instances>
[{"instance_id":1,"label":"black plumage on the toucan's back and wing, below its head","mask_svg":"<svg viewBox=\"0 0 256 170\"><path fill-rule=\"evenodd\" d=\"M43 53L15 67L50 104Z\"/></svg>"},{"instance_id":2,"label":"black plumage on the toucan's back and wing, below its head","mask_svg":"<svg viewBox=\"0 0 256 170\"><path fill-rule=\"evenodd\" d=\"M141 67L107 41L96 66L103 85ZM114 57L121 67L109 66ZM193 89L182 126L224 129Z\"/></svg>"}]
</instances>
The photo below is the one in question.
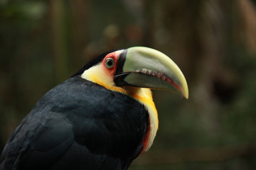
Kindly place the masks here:
<instances>
[{"instance_id":1,"label":"black plumage on the toucan's back and wing, below its head","mask_svg":"<svg viewBox=\"0 0 256 170\"><path fill-rule=\"evenodd\" d=\"M72 77L18 125L0 169L127 169L142 151L148 116L134 98Z\"/></svg>"}]
</instances>

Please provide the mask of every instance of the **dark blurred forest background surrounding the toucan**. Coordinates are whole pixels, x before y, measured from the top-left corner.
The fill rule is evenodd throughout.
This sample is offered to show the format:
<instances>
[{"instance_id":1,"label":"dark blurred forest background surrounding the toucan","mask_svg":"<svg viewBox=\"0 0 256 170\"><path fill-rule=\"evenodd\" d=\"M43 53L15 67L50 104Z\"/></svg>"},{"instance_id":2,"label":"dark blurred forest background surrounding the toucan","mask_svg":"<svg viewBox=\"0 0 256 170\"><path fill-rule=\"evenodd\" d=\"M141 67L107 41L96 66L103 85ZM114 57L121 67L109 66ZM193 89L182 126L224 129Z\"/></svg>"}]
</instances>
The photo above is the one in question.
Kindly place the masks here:
<instances>
[{"instance_id":1,"label":"dark blurred forest background surrounding the toucan","mask_svg":"<svg viewBox=\"0 0 256 170\"><path fill-rule=\"evenodd\" d=\"M131 170L256 169L256 1L0 0L0 151L38 99L102 52L147 46L185 75L154 91L159 132Z\"/></svg>"}]
</instances>

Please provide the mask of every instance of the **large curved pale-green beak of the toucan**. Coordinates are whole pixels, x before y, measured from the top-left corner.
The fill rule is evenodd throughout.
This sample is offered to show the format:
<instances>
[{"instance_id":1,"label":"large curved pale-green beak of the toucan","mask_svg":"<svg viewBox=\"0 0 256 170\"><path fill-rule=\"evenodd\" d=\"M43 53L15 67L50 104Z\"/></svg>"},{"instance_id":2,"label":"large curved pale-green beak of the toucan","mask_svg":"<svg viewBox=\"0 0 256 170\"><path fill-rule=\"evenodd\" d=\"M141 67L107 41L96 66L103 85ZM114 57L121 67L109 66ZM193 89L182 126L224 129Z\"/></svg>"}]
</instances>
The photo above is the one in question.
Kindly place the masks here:
<instances>
[{"instance_id":1,"label":"large curved pale-green beak of the toucan","mask_svg":"<svg viewBox=\"0 0 256 170\"><path fill-rule=\"evenodd\" d=\"M114 83L173 91L188 98L188 84L181 69L164 53L148 47L130 47L122 51Z\"/></svg>"}]
</instances>

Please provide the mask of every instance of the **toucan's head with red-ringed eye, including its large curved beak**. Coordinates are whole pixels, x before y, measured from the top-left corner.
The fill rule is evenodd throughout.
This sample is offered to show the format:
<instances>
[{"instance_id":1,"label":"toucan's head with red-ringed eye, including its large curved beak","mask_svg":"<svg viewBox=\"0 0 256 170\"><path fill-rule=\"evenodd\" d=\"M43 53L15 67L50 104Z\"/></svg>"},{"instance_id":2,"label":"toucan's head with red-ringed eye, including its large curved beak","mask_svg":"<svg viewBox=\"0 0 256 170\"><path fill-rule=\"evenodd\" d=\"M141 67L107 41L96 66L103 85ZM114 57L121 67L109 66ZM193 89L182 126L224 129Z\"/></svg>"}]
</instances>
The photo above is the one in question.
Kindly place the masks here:
<instances>
[{"instance_id":1,"label":"toucan's head with red-ringed eye, including its large curved beak","mask_svg":"<svg viewBox=\"0 0 256 170\"><path fill-rule=\"evenodd\" d=\"M149 47L105 53L78 74L113 91L122 92L127 86L134 86L173 91L188 98L188 85L181 69L162 52Z\"/></svg>"}]
</instances>

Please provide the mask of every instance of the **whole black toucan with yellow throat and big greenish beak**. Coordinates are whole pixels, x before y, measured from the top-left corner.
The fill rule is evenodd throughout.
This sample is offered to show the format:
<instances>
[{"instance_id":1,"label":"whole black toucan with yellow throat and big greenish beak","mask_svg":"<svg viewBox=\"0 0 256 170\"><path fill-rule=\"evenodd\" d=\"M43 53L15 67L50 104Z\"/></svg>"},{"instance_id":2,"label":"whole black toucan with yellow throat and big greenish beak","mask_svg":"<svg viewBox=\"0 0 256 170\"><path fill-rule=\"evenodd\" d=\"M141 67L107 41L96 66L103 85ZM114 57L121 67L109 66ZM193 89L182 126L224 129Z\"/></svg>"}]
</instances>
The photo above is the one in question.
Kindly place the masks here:
<instances>
[{"instance_id":1,"label":"whole black toucan with yellow throat and big greenish beak","mask_svg":"<svg viewBox=\"0 0 256 170\"><path fill-rule=\"evenodd\" d=\"M128 169L159 128L151 89L188 98L181 69L158 50L100 55L41 97L6 143L0 169Z\"/></svg>"}]
</instances>

